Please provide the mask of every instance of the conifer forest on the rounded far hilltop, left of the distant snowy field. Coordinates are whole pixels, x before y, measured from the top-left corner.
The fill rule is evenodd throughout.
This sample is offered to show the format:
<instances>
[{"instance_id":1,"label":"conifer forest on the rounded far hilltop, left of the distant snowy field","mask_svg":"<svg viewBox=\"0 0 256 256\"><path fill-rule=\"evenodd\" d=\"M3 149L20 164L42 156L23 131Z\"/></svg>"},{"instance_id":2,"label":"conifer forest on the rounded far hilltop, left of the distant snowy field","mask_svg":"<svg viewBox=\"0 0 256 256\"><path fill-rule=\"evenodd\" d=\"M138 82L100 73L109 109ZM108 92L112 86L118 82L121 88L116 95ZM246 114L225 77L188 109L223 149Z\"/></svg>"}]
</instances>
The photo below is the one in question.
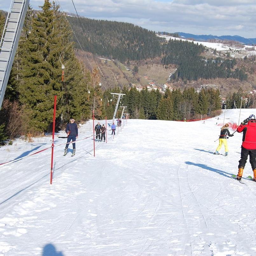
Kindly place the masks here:
<instances>
[{"instance_id":1,"label":"conifer forest on the rounded far hilltop, left of the distant snowy field","mask_svg":"<svg viewBox=\"0 0 256 256\"><path fill-rule=\"evenodd\" d=\"M87 52L120 61L161 56L162 38L155 32L125 22L68 17L81 46ZM86 40L83 30L88 40ZM76 38L73 38L77 44Z\"/></svg>"}]
</instances>

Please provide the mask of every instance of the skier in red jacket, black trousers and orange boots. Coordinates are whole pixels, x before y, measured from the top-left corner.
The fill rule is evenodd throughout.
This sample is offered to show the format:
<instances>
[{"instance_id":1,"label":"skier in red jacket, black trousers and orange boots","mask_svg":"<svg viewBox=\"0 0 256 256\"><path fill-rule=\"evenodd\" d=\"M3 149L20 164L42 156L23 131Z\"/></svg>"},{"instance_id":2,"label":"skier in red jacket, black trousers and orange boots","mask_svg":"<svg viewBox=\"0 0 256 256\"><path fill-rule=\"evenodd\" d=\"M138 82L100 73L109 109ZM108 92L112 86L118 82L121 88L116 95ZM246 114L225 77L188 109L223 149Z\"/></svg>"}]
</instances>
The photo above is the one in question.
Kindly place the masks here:
<instances>
[{"instance_id":1,"label":"skier in red jacket, black trousers and orange boots","mask_svg":"<svg viewBox=\"0 0 256 256\"><path fill-rule=\"evenodd\" d=\"M256 181L256 120L255 115L251 114L246 118L239 127L237 132L243 132L243 143L241 146L241 159L238 165L237 179L241 180L243 170L247 161L248 155L250 156L250 163L253 169L253 180Z\"/></svg>"}]
</instances>

